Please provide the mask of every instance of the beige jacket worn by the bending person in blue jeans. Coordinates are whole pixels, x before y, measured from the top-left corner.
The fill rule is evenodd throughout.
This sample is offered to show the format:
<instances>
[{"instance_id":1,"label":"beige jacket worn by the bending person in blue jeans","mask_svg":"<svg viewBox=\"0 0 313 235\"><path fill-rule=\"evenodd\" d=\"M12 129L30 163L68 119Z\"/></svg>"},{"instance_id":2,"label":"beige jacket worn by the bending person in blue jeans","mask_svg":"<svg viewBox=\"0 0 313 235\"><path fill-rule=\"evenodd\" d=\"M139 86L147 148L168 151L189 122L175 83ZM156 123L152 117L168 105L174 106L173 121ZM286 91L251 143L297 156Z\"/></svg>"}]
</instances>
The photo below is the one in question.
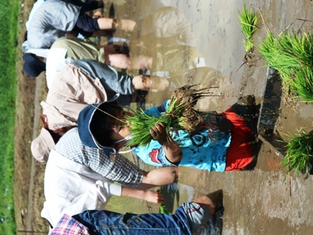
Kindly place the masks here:
<instances>
[{"instance_id":1,"label":"beige jacket worn by the bending person in blue jeans","mask_svg":"<svg viewBox=\"0 0 313 235\"><path fill-rule=\"evenodd\" d=\"M99 78L92 78L78 66L68 64L54 78L47 99L41 102L48 128L76 125L80 111L88 104L106 101Z\"/></svg>"}]
</instances>

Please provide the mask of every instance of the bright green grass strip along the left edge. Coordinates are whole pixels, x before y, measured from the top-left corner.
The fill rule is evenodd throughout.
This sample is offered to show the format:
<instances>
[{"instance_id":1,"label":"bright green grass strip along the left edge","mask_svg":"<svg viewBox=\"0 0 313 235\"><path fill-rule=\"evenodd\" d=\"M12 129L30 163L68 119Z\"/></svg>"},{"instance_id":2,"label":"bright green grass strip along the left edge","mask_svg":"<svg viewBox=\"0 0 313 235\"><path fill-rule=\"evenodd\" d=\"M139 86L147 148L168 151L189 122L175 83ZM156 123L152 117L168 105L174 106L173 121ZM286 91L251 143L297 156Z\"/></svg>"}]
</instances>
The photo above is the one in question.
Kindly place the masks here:
<instances>
[{"instance_id":1,"label":"bright green grass strip along the left edge","mask_svg":"<svg viewBox=\"0 0 313 235\"><path fill-rule=\"evenodd\" d=\"M17 22L20 3L17 0L0 1L0 223L1 234L15 234L13 203L14 125L17 48Z\"/></svg>"}]
</instances>

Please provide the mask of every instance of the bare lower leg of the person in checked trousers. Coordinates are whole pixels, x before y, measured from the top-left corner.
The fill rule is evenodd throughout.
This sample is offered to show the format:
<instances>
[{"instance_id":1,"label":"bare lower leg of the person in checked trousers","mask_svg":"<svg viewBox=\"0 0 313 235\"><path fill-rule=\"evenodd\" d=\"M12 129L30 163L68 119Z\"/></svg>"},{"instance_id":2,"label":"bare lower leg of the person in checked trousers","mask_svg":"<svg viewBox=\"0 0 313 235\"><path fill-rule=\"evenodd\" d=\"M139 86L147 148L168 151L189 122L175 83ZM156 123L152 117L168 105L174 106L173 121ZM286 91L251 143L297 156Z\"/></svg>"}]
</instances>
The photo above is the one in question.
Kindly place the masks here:
<instances>
[{"instance_id":1,"label":"bare lower leg of the person in checked trousers","mask_svg":"<svg viewBox=\"0 0 313 235\"><path fill-rule=\"evenodd\" d=\"M162 167L149 172L143 172L143 182L137 188L138 190L147 190L151 187L170 185L177 183L179 169L175 166Z\"/></svg>"}]
</instances>

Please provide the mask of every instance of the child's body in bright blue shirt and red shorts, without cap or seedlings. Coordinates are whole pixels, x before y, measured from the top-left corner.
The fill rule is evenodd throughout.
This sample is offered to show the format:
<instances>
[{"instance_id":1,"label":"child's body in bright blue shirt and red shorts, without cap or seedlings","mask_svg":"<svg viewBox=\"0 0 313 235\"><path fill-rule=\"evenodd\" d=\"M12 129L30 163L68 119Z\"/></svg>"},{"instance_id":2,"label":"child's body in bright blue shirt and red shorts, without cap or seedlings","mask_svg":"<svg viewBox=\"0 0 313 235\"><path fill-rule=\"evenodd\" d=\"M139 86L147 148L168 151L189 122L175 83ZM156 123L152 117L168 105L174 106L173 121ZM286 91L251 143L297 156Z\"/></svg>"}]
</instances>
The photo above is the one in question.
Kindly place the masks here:
<instances>
[{"instance_id":1,"label":"child's body in bright blue shirt and red shorts, without cap or seedlings","mask_svg":"<svg viewBox=\"0 0 313 235\"><path fill-rule=\"evenodd\" d=\"M244 99L249 101L247 106L240 105ZM145 113L160 116L166 112L169 102L152 107ZM154 166L192 166L220 172L253 169L259 151L257 118L251 120L256 113L254 97L246 96L224 113L204 112L205 122L201 129L191 134L172 129L168 139L164 124L160 122L150 129L154 140L145 147L133 148L133 151L143 162ZM124 122L121 127L121 144L127 143L126 136L131 136L128 124Z\"/></svg>"}]
</instances>

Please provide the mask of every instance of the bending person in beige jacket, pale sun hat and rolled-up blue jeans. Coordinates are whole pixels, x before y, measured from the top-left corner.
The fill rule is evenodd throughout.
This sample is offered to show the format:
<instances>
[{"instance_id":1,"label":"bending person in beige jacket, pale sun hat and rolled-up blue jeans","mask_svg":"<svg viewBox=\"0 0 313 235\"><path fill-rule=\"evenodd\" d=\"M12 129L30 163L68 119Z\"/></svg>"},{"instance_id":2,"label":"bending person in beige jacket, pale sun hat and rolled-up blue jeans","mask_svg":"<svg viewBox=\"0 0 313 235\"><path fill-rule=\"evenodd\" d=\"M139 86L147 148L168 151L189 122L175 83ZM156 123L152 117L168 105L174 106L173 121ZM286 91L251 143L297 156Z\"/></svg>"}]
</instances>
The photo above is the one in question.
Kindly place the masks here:
<instances>
[{"instance_id":1,"label":"bending person in beige jacket, pale sun hat and rolled-up blue jeans","mask_svg":"<svg viewBox=\"0 0 313 235\"><path fill-rule=\"evenodd\" d=\"M129 76L111 66L92 59L68 64L54 78L45 101L41 102L43 129L31 142L31 153L39 162L46 162L50 150L63 134L77 125L78 114L89 104L101 103L120 94L119 104L128 105L136 91L153 87L165 90L166 78Z\"/></svg>"}]
</instances>

